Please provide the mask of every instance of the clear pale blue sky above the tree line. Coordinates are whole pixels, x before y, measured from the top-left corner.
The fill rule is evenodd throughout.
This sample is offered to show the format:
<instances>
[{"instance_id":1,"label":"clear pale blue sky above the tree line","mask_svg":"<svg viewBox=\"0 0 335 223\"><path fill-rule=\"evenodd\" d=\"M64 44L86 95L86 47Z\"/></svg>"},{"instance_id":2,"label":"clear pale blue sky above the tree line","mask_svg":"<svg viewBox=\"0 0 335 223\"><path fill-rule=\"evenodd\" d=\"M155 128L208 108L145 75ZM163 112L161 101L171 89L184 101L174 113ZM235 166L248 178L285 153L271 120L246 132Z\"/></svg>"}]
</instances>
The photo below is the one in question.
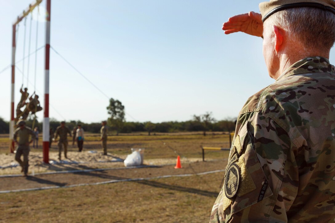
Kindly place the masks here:
<instances>
[{"instance_id":1,"label":"clear pale blue sky above the tree line","mask_svg":"<svg viewBox=\"0 0 335 223\"><path fill-rule=\"evenodd\" d=\"M2 1L0 69L11 63L11 24L30 0ZM217 120L236 117L247 98L273 83L262 55L262 39L225 35L222 23L259 1L222 0L52 0L51 46L109 97L119 99L136 121L186 121L212 111ZM43 12L45 0L40 12ZM43 13L42 13L43 14ZM36 13L31 52L35 50ZM40 15L41 18L41 15ZM26 21L26 50L30 17ZM16 60L23 57L20 23ZM45 22L39 22L39 44ZM331 51L330 61L334 58ZM99 122L108 117L108 98L57 54L50 55L50 117ZM44 50L38 52L36 89L42 106ZM334 64L334 63L333 63ZM28 89L34 89L35 56ZM25 59L25 75L27 74ZM22 70L22 62L17 63ZM10 118L10 69L0 74L0 117ZM27 79L24 78L24 86ZM16 70L15 106L22 74ZM55 109L54 109L55 108ZM38 114L43 118L43 111ZM127 121L135 121L126 115Z\"/></svg>"}]
</instances>

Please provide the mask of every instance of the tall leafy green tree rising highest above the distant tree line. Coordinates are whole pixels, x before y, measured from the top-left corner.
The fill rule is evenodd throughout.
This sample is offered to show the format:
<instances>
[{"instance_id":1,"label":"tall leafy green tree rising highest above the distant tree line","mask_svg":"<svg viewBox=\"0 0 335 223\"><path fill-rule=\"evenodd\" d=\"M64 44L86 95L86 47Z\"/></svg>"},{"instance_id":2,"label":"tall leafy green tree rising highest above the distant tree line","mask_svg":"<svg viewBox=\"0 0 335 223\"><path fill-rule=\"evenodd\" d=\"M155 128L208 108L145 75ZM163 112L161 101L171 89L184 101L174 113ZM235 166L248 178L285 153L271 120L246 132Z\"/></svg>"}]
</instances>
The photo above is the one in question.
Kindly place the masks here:
<instances>
[{"instance_id":1,"label":"tall leafy green tree rising highest above the distant tree line","mask_svg":"<svg viewBox=\"0 0 335 223\"><path fill-rule=\"evenodd\" d=\"M122 105L121 101L109 99L109 106L107 107L108 114L111 116L108 118L108 125L116 129L116 135L119 135L120 130L125 122L125 106Z\"/></svg>"}]
</instances>

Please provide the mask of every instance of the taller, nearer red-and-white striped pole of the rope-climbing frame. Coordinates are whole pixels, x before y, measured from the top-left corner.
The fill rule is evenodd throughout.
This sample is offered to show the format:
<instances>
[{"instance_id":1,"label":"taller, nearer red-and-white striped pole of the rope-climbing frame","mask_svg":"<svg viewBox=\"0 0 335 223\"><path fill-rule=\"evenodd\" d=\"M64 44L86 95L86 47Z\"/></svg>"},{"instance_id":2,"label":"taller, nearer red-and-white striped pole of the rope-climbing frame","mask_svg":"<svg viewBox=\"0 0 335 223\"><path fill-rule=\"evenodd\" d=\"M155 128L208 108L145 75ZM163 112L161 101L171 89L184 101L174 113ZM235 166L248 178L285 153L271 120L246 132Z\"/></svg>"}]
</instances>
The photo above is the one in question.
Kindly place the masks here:
<instances>
[{"instance_id":1,"label":"taller, nearer red-and-white striped pole of the rope-climbing frame","mask_svg":"<svg viewBox=\"0 0 335 223\"><path fill-rule=\"evenodd\" d=\"M43 162L49 163L49 62L50 62L50 17L51 0L47 0L45 77L44 77L44 120L43 120Z\"/></svg>"}]
</instances>

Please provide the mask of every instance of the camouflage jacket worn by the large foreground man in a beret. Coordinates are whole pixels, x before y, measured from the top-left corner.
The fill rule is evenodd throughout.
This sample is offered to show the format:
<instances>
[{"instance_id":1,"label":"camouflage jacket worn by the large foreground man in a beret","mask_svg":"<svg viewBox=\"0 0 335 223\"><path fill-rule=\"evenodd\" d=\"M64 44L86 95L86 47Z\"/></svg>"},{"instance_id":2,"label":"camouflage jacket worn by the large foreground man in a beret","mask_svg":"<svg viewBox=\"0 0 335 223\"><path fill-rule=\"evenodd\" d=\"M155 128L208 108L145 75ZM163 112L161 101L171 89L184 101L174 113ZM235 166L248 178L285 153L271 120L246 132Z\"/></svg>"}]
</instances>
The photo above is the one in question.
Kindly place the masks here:
<instances>
[{"instance_id":1,"label":"camouflage jacket worn by the large foreground man in a beret","mask_svg":"<svg viewBox=\"0 0 335 223\"><path fill-rule=\"evenodd\" d=\"M210 222L334 222L335 70L305 58L248 99Z\"/></svg>"}]
</instances>

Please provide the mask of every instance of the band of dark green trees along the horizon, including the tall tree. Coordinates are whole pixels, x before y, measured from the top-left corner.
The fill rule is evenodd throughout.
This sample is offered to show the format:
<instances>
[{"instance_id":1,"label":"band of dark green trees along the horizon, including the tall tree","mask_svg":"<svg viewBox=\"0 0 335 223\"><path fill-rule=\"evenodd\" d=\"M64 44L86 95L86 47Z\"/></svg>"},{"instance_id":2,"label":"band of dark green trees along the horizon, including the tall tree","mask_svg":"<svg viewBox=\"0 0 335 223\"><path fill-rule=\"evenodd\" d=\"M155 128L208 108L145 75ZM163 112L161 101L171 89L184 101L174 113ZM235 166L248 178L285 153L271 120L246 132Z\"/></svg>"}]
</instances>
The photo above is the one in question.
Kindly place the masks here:
<instances>
[{"instance_id":1,"label":"band of dark green trees along the horizon, including the tall tree","mask_svg":"<svg viewBox=\"0 0 335 223\"><path fill-rule=\"evenodd\" d=\"M193 132L202 131L203 135L206 136L207 131L219 132L226 131L232 132L235 130L235 120L236 118L226 118L224 120L216 121L212 117L211 112L206 112L202 115L193 115L193 119L185 122L126 122L125 120L125 106L122 102L110 98L109 106L106 107L109 114L107 119L107 126L109 126L110 131L115 131L116 135L119 133L132 133L132 132L148 132L150 135L152 132L157 133L169 133L169 132ZM26 126L32 127L34 119L29 116L26 120ZM101 128L101 123L84 123L80 120L71 120L66 123L66 125L73 129L78 124L86 132L99 133ZM56 119L50 119L50 128L53 131L56 130L60 122ZM42 123L36 120L35 127L38 127L39 131L42 131ZM0 134L9 133L9 122L6 122L0 117Z\"/></svg>"}]
</instances>

